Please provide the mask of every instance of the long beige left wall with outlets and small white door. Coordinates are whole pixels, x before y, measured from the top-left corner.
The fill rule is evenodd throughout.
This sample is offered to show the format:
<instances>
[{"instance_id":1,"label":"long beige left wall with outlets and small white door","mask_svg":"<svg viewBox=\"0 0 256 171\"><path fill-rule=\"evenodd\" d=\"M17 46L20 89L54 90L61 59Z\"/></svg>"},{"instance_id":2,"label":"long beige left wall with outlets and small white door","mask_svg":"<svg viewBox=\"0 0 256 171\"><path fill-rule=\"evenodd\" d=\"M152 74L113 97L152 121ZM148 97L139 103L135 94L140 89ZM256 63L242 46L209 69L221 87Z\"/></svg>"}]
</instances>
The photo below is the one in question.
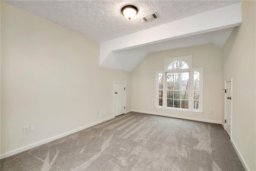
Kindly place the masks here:
<instances>
[{"instance_id":1,"label":"long beige left wall with outlets and small white door","mask_svg":"<svg viewBox=\"0 0 256 171\"><path fill-rule=\"evenodd\" d=\"M98 42L3 2L1 26L1 153L113 116L114 81L131 109L131 73L99 67Z\"/></svg>"}]
</instances>

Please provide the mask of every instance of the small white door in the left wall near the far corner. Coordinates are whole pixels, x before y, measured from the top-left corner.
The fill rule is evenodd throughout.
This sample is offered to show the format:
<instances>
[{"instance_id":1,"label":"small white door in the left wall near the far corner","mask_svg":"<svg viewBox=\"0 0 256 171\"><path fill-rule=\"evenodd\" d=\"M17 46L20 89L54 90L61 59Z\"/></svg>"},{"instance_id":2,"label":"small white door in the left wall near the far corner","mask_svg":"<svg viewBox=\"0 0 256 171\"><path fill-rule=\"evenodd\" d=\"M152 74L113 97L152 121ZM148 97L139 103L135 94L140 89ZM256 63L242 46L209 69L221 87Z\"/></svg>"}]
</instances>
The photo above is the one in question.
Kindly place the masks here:
<instances>
[{"instance_id":1,"label":"small white door in the left wall near the far corner","mask_svg":"<svg viewBox=\"0 0 256 171\"><path fill-rule=\"evenodd\" d=\"M114 113L115 116L124 114L125 105L124 105L124 83L115 83L114 85Z\"/></svg>"}]
</instances>

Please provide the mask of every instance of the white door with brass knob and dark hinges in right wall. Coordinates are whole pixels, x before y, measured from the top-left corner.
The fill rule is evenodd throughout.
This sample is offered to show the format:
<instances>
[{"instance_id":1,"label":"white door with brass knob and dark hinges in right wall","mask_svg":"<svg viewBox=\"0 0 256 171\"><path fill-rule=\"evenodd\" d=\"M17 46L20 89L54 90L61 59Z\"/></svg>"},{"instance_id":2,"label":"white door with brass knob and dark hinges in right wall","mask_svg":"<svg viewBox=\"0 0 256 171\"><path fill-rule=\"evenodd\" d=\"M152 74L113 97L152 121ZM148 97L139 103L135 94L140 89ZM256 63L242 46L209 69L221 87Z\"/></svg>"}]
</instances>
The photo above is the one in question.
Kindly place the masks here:
<instances>
[{"instance_id":1,"label":"white door with brass knob and dark hinges in right wall","mask_svg":"<svg viewBox=\"0 0 256 171\"><path fill-rule=\"evenodd\" d=\"M231 104L232 104L232 97L231 97L231 92L232 92L232 82L225 82L226 84L226 95L225 95L225 104L226 104L226 131L231 138Z\"/></svg>"}]
</instances>

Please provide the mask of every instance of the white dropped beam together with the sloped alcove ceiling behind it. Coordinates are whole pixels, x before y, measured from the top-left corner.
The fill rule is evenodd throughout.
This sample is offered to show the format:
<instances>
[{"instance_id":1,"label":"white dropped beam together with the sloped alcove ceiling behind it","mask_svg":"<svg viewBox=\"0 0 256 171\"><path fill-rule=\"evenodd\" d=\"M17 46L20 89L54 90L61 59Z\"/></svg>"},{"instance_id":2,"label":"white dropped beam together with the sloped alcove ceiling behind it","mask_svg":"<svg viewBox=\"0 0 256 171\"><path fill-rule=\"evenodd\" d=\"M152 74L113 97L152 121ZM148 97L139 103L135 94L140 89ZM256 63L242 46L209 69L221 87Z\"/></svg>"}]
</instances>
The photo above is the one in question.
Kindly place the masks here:
<instances>
[{"instance_id":1,"label":"white dropped beam together with the sloped alcove ceiling behind it","mask_svg":"<svg viewBox=\"0 0 256 171\"><path fill-rule=\"evenodd\" d=\"M222 47L233 28L240 26L241 22L241 3L237 3L102 42L100 66L131 72L148 53L160 51L166 45L172 49L175 42L180 45L176 48L196 46L198 42ZM197 41L188 44L190 36ZM152 44L158 48L152 48Z\"/></svg>"}]
</instances>

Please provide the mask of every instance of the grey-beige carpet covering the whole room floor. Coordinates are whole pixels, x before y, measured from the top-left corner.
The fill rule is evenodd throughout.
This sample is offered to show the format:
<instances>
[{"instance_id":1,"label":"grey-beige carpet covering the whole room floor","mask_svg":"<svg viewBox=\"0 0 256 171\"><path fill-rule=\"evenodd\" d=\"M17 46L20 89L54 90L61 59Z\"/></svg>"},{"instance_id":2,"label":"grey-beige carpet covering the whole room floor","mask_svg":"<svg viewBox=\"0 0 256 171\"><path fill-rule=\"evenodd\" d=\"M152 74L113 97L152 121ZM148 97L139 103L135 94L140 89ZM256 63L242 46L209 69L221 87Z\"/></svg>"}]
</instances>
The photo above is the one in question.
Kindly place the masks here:
<instances>
[{"instance_id":1,"label":"grey-beige carpet covering the whole room floor","mask_svg":"<svg viewBox=\"0 0 256 171\"><path fill-rule=\"evenodd\" d=\"M130 112L1 159L1 170L245 169L222 125Z\"/></svg>"}]
</instances>

